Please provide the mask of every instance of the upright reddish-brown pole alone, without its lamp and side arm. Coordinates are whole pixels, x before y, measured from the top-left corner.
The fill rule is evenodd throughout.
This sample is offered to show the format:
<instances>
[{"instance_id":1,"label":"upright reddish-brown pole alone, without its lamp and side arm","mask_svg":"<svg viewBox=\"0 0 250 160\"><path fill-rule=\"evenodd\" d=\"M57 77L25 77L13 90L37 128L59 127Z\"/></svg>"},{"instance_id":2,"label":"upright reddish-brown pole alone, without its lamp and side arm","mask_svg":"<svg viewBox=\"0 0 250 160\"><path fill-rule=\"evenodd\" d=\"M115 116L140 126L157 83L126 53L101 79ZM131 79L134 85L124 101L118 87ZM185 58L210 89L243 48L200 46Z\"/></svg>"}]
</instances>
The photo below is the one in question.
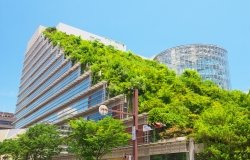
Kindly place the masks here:
<instances>
[{"instance_id":1,"label":"upright reddish-brown pole alone, without its lamp and side arm","mask_svg":"<svg viewBox=\"0 0 250 160\"><path fill-rule=\"evenodd\" d=\"M138 143L137 143L137 131L138 131L138 89L134 90L134 107L133 107L133 126L135 127L135 139L133 140L133 157L134 160L138 160Z\"/></svg>"}]
</instances>

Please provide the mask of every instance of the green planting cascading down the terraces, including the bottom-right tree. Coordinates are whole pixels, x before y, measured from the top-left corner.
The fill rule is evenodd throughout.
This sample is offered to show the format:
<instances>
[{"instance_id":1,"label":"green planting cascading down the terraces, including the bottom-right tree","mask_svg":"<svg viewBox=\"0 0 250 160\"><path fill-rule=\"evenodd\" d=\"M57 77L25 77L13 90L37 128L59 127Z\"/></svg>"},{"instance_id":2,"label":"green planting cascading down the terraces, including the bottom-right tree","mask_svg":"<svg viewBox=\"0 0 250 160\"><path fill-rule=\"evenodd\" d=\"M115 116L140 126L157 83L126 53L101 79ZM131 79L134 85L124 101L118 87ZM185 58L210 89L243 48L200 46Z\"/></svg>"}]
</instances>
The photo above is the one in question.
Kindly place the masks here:
<instances>
[{"instance_id":1,"label":"green planting cascading down the terraces, including the bottom-right tree","mask_svg":"<svg viewBox=\"0 0 250 160\"><path fill-rule=\"evenodd\" d=\"M210 159L218 155L245 159L249 155L250 93L221 89L193 70L176 75L156 61L54 28L45 30L44 35L59 45L66 57L80 62L83 71L90 69L94 84L108 81L111 96L131 96L131 88L138 88L139 111L147 112L151 122L166 125L158 131L160 138L195 137L207 144L203 159L207 155Z\"/></svg>"}]
</instances>

